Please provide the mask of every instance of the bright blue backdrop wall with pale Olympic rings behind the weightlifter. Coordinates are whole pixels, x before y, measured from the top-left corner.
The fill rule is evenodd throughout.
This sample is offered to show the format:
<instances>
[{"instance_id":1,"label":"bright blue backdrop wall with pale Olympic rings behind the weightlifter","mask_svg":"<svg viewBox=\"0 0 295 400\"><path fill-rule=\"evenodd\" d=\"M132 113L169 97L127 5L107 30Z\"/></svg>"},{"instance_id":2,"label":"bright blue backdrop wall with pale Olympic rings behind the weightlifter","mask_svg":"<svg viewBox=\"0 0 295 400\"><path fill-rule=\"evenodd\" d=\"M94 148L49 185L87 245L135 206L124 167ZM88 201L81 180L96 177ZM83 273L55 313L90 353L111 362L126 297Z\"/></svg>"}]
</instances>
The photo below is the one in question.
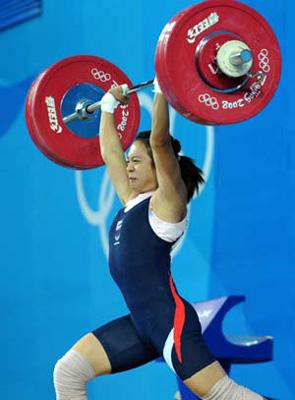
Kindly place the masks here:
<instances>
[{"instance_id":1,"label":"bright blue backdrop wall with pale Olympic rings behind the weightlifter","mask_svg":"<svg viewBox=\"0 0 295 400\"><path fill-rule=\"evenodd\" d=\"M0 1L0 6L4 4ZM174 262L191 301L245 294L224 330L273 335L274 361L236 366L241 383L295 398L294 361L294 3L247 0L273 26L284 70L271 104L254 119L206 129L172 115L183 150L205 168L207 185ZM83 334L126 308L106 260L106 230L118 209L104 168L65 169L33 145L24 120L32 79L74 54L96 54L133 82L153 77L158 35L188 0L45 0L43 14L0 33L1 366L0 397L54 398L56 360ZM149 91L140 95L150 126ZM170 370L151 363L91 383L90 399L171 399Z\"/></svg>"}]
</instances>

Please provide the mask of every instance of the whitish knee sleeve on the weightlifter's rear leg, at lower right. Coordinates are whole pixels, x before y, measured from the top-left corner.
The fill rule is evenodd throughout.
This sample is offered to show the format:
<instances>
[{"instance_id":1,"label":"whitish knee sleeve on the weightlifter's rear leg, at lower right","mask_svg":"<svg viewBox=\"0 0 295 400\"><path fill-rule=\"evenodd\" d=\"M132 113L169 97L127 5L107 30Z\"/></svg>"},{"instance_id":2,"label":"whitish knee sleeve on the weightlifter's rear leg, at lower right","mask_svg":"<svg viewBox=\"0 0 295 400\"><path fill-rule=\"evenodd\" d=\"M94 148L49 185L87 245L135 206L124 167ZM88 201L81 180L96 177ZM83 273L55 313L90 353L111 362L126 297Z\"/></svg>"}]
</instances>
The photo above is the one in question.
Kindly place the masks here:
<instances>
[{"instance_id":1,"label":"whitish knee sleeve on the weightlifter's rear leg, at lower right","mask_svg":"<svg viewBox=\"0 0 295 400\"><path fill-rule=\"evenodd\" d=\"M202 397L203 400L263 400L263 397L244 386L237 385L227 375Z\"/></svg>"}]
</instances>

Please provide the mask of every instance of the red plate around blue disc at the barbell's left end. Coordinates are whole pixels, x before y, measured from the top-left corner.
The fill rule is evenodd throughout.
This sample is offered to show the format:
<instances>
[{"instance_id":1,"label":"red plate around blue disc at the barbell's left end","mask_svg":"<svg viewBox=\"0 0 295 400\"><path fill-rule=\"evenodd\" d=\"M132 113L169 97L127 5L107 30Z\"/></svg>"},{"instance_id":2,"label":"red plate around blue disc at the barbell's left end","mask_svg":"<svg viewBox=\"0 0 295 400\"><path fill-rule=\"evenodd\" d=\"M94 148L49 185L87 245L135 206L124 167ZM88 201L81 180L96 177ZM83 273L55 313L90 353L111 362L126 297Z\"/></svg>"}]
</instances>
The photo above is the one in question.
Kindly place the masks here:
<instances>
[{"instance_id":1,"label":"red plate around blue disc at the barbell's left end","mask_svg":"<svg viewBox=\"0 0 295 400\"><path fill-rule=\"evenodd\" d=\"M37 77L26 100L27 126L34 143L51 160L77 169L103 164L99 138L75 135L62 120L64 95L73 86L85 82L95 84L104 91L123 83L132 86L128 77L110 62L95 56L75 56L52 65ZM137 96L132 94L128 106L118 107L114 115L125 150L134 139L139 125Z\"/></svg>"}]
</instances>

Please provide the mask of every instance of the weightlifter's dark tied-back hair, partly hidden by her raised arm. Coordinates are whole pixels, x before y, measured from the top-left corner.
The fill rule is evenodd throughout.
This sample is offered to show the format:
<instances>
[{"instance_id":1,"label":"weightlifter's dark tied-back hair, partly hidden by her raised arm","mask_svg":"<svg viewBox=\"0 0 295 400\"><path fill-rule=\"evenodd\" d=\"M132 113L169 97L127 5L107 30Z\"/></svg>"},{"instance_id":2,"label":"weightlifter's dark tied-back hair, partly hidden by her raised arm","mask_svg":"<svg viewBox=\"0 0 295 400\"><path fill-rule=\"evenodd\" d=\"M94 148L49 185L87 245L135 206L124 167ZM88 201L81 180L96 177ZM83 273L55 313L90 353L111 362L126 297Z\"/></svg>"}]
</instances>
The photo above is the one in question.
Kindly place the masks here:
<instances>
[{"instance_id":1,"label":"weightlifter's dark tied-back hair, partly hidden by her raised arm","mask_svg":"<svg viewBox=\"0 0 295 400\"><path fill-rule=\"evenodd\" d=\"M150 156L154 164L153 152L150 145L150 136L151 136L151 131L139 132L135 140L138 140L145 145L148 155ZM181 144L179 140L175 139L171 135L170 139L175 157L179 162L181 177L187 189L187 202L189 202L193 197L194 193L199 192L199 186L205 182L203 178L203 172L199 167L196 166L193 159L179 154L181 151Z\"/></svg>"}]
</instances>

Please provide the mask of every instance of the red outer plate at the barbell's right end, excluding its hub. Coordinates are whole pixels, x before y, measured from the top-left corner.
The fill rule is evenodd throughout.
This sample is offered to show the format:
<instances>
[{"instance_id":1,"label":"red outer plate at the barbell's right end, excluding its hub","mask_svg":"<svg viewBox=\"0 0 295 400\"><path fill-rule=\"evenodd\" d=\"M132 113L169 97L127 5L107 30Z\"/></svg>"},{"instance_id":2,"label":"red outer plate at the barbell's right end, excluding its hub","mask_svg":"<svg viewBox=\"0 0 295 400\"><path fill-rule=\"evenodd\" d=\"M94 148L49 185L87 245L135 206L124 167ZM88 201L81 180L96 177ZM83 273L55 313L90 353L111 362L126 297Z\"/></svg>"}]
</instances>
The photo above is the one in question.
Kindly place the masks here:
<instances>
[{"instance_id":1,"label":"red outer plate at the barbell's right end, excluding its hub","mask_svg":"<svg viewBox=\"0 0 295 400\"><path fill-rule=\"evenodd\" d=\"M263 71L262 82L251 78L239 91L221 93L202 79L196 49L216 32L237 35L250 47L251 71ZM161 33L155 62L170 104L184 117L209 125L241 122L259 113L273 97L281 75L280 48L271 27L255 10L233 0L207 0L177 14Z\"/></svg>"}]
</instances>

